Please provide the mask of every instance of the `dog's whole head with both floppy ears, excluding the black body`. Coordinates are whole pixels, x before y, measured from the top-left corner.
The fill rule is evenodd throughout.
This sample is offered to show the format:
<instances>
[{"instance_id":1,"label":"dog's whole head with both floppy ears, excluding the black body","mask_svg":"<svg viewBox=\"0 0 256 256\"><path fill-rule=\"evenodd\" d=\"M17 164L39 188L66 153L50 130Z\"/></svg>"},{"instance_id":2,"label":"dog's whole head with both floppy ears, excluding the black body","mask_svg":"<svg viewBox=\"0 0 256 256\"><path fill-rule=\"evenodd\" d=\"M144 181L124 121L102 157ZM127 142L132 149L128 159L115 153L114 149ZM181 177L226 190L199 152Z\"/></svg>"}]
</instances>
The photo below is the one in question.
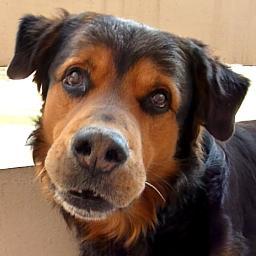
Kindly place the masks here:
<instances>
[{"instance_id":1,"label":"dog's whole head with both floppy ears, excluding the black body","mask_svg":"<svg viewBox=\"0 0 256 256\"><path fill-rule=\"evenodd\" d=\"M42 180L65 211L112 236L129 220L134 237L153 225L200 127L228 139L248 87L200 42L94 13L25 16L8 75L34 71Z\"/></svg>"}]
</instances>

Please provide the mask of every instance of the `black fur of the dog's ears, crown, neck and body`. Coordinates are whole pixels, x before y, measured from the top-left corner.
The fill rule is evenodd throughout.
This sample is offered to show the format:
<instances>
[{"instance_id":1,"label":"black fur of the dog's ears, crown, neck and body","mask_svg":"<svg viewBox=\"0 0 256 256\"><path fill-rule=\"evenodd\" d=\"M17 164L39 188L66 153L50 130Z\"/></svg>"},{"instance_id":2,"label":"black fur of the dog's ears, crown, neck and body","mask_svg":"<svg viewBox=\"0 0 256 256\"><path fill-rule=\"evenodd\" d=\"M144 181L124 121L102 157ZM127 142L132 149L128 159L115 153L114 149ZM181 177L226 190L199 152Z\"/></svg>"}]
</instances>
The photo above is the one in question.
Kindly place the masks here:
<instances>
[{"instance_id":1,"label":"black fur of the dog's ears, crown, neck and body","mask_svg":"<svg viewBox=\"0 0 256 256\"><path fill-rule=\"evenodd\" d=\"M231 137L248 80L211 57L198 41L92 13L64 13L55 20L24 17L8 75L17 79L36 71L45 100L52 71L81 44L99 42L113 50L119 77L149 57L174 78L182 97L176 151L181 169L167 181L173 191L158 212L155 232L141 235L129 249L122 241L83 242L81 256L256 255L256 123L237 124ZM199 139L202 127L207 131ZM65 212L64 217L82 236L80 226Z\"/></svg>"}]
</instances>

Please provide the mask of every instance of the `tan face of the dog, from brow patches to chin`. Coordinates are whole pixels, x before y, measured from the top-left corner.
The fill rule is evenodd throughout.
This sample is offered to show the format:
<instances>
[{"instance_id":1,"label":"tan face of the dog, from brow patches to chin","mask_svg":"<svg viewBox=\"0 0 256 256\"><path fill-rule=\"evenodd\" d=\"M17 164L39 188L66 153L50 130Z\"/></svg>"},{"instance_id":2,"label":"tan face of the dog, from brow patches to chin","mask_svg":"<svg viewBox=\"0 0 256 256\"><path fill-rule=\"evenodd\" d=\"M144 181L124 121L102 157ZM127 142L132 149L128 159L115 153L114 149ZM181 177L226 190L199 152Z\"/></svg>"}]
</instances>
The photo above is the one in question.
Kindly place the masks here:
<instances>
[{"instance_id":1,"label":"tan face of the dog, from brow patches to chin","mask_svg":"<svg viewBox=\"0 0 256 256\"><path fill-rule=\"evenodd\" d=\"M55 199L61 204L65 199L66 210L86 219L128 207L146 179L156 179L147 177L152 164L161 177L174 165L169 157L178 134L174 85L149 59L118 76L111 51L101 45L78 47L57 66L42 117L45 168L58 191ZM167 143L161 142L163 135ZM168 153L153 150L159 147ZM161 166L163 161L168 164ZM73 204L85 208L70 210Z\"/></svg>"}]
</instances>

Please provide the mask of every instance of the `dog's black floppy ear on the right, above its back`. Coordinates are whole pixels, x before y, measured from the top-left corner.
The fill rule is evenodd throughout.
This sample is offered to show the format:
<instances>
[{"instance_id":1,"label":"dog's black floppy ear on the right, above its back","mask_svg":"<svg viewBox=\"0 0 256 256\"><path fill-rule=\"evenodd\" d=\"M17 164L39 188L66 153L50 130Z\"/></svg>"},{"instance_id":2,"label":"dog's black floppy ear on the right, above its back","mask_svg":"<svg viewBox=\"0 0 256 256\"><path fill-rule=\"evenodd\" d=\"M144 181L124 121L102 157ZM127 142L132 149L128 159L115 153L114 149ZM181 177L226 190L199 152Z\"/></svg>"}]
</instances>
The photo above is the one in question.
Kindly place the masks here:
<instances>
[{"instance_id":1,"label":"dog's black floppy ear on the right, above its back","mask_svg":"<svg viewBox=\"0 0 256 256\"><path fill-rule=\"evenodd\" d=\"M219 140L227 140L234 130L235 114L249 80L210 56L201 42L189 40L192 72L196 87L199 122Z\"/></svg>"}]
</instances>

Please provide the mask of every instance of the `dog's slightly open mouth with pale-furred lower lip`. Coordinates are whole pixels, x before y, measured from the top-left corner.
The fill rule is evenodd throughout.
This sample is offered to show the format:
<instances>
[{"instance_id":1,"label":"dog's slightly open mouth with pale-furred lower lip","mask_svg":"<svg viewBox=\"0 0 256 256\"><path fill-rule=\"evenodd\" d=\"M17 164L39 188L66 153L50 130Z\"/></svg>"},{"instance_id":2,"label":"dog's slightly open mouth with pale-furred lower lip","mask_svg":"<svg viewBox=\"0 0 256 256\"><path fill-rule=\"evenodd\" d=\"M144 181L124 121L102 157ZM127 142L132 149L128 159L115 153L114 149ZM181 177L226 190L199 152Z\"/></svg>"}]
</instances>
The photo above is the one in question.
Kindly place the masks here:
<instances>
[{"instance_id":1,"label":"dog's slightly open mouth with pale-furred lower lip","mask_svg":"<svg viewBox=\"0 0 256 256\"><path fill-rule=\"evenodd\" d=\"M113 204L97 192L85 190L55 190L55 200L64 210L83 220L105 219L115 210Z\"/></svg>"}]
</instances>

